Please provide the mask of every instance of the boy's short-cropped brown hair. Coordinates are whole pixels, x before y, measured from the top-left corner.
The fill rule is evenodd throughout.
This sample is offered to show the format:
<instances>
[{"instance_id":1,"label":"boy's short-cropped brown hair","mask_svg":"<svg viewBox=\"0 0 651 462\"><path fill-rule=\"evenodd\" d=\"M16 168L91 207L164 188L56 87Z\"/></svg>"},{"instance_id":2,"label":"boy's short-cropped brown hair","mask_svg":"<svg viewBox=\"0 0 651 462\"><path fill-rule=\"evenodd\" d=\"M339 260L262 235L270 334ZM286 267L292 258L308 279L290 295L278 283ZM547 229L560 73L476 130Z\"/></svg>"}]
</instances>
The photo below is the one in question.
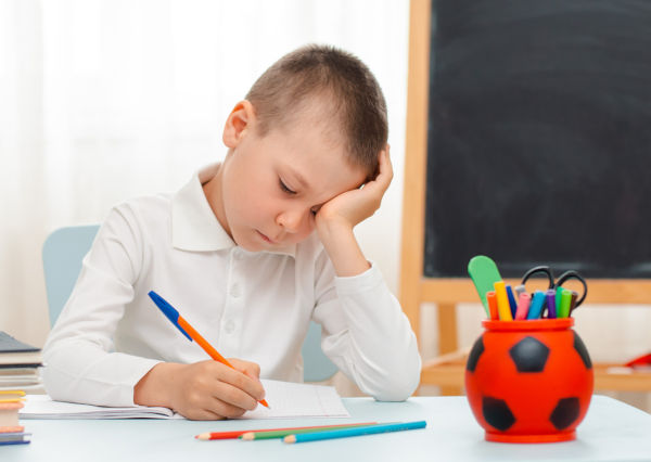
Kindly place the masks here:
<instances>
[{"instance_id":1,"label":"boy's short-cropped brown hair","mask_svg":"<svg viewBox=\"0 0 651 462\"><path fill-rule=\"evenodd\" d=\"M332 102L348 161L371 178L386 145L386 103L375 77L358 57L329 46L302 47L271 65L246 94L261 136L285 123L290 108L314 97Z\"/></svg>"}]
</instances>

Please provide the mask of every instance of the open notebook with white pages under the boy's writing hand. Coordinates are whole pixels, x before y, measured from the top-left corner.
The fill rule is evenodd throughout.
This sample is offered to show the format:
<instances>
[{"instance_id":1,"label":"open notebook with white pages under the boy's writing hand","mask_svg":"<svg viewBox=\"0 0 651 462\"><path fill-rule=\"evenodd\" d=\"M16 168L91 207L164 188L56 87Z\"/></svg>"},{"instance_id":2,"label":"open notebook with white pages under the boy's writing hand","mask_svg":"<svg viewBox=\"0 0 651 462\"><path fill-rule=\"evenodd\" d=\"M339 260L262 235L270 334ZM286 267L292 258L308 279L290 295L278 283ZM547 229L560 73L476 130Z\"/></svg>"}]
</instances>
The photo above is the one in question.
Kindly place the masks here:
<instances>
[{"instance_id":1,"label":"open notebook with white pages under the boy's writing hand","mask_svg":"<svg viewBox=\"0 0 651 462\"><path fill-rule=\"evenodd\" d=\"M258 406L240 419L348 418L331 386L263 380L270 409ZM136 406L108 408L53 401L47 395L28 395L20 419L183 419L167 408Z\"/></svg>"}]
</instances>

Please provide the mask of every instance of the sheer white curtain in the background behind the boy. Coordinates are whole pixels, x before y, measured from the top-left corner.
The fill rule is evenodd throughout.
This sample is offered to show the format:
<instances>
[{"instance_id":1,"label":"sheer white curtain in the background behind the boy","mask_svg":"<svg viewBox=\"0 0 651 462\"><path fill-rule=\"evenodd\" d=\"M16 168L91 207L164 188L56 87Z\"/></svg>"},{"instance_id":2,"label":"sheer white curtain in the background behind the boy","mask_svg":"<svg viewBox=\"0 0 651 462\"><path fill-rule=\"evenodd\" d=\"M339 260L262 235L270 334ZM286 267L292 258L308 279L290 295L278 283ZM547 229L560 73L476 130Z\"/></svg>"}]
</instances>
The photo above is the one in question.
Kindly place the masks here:
<instances>
[{"instance_id":1,"label":"sheer white curtain in the background behind the boy","mask_svg":"<svg viewBox=\"0 0 651 462\"><path fill-rule=\"evenodd\" d=\"M309 42L365 61L385 91L396 180L362 246L397 288L407 0L0 0L0 330L42 345L49 232L175 191L225 155L257 76ZM396 219L398 217L398 219Z\"/></svg>"}]
</instances>

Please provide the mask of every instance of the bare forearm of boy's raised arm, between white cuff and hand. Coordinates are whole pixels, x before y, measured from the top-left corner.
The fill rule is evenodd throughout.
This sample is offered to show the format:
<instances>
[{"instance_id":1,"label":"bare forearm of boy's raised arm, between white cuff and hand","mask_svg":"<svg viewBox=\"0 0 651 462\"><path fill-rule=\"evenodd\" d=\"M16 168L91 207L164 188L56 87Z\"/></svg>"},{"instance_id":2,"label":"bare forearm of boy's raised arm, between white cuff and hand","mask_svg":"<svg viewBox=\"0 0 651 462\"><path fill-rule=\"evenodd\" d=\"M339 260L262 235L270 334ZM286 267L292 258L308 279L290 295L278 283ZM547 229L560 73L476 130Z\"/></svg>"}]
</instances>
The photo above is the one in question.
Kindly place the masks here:
<instances>
[{"instance_id":1,"label":"bare forearm of boy's raised arm, between white cuff and hand","mask_svg":"<svg viewBox=\"0 0 651 462\"><path fill-rule=\"evenodd\" d=\"M361 274L371 267L355 239L350 224L343 221L326 222L318 232L337 277Z\"/></svg>"}]
</instances>

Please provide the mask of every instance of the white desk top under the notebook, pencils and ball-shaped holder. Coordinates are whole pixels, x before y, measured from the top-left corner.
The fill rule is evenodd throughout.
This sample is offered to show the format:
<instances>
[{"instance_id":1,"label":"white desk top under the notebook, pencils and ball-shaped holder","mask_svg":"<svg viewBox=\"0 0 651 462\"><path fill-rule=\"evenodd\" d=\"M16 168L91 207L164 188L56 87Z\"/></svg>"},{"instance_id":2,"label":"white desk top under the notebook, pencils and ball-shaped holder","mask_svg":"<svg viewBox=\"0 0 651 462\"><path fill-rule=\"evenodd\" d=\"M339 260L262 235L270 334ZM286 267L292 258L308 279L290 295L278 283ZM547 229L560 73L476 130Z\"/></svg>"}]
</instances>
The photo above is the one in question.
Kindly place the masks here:
<instances>
[{"instance_id":1,"label":"white desk top under the notebook, pencils and ball-shaped holder","mask_svg":"<svg viewBox=\"0 0 651 462\"><path fill-rule=\"evenodd\" d=\"M414 397L406 402L347 398L344 403L356 421L426 420L427 427L285 445L279 440L199 441L193 436L343 420L23 420L33 433L31 444L0 447L0 461L651 461L651 414L602 396L592 398L575 441L544 445L485 441L464 397Z\"/></svg>"}]
</instances>

